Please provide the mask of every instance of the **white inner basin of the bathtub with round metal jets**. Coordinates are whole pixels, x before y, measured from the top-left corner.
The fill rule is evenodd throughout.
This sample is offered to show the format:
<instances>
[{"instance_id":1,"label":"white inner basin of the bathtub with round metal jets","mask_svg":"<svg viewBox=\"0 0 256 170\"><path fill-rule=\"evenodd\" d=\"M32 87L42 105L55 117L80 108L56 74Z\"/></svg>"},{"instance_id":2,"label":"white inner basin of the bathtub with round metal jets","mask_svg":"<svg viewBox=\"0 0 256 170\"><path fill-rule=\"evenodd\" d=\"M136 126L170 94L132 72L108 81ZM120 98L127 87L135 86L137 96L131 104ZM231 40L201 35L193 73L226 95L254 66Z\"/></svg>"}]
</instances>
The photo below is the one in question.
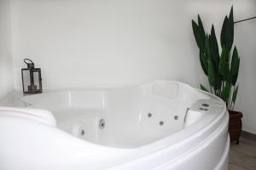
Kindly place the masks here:
<instances>
[{"instance_id":1,"label":"white inner basin of the bathtub with round metal jets","mask_svg":"<svg viewBox=\"0 0 256 170\"><path fill-rule=\"evenodd\" d=\"M183 83L157 81L137 88L60 91L21 100L27 107L50 111L57 127L75 137L127 148L182 130L188 108L209 98Z\"/></svg>"}]
</instances>

